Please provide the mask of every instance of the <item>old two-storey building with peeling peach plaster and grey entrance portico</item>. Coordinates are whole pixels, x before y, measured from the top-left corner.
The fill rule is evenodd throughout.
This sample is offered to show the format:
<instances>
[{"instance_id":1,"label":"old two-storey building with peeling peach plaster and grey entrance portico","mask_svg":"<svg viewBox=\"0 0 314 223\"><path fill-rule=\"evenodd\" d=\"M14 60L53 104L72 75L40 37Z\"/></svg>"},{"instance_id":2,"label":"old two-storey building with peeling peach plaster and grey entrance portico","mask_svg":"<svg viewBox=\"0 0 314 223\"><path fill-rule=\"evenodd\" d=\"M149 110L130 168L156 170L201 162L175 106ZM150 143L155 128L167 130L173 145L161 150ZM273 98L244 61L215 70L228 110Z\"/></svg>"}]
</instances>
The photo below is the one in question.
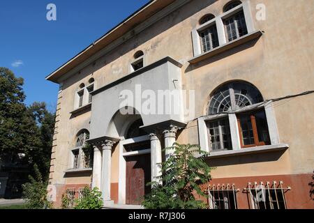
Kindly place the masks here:
<instances>
[{"instance_id":1,"label":"old two-storey building with peeling peach plaster and grey entrance portico","mask_svg":"<svg viewBox=\"0 0 314 223\"><path fill-rule=\"evenodd\" d=\"M55 205L85 185L105 206L139 204L177 141L210 152L209 208L314 208L313 10L311 0L154 0L52 72ZM139 89L181 93L164 95L169 111L143 112L123 104Z\"/></svg>"}]
</instances>

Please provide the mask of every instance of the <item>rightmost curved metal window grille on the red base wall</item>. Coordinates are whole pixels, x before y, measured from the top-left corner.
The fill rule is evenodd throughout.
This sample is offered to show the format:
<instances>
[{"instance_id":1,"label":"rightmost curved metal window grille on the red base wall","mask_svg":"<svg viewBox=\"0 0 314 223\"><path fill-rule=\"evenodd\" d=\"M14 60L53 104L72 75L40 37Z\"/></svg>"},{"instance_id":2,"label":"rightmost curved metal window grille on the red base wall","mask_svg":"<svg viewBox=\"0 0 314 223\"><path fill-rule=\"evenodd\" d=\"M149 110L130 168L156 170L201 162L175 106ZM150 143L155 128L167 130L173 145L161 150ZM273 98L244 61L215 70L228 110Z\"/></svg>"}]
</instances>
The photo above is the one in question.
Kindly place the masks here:
<instances>
[{"instance_id":1,"label":"rightmost curved metal window grille on the red base wall","mask_svg":"<svg viewBox=\"0 0 314 223\"><path fill-rule=\"evenodd\" d=\"M244 188L251 200L252 209L287 209L285 193L288 190L291 190L291 187L283 187L283 181L278 184L276 181L272 184L267 182L266 185L263 182L249 182L248 187Z\"/></svg>"}]
</instances>

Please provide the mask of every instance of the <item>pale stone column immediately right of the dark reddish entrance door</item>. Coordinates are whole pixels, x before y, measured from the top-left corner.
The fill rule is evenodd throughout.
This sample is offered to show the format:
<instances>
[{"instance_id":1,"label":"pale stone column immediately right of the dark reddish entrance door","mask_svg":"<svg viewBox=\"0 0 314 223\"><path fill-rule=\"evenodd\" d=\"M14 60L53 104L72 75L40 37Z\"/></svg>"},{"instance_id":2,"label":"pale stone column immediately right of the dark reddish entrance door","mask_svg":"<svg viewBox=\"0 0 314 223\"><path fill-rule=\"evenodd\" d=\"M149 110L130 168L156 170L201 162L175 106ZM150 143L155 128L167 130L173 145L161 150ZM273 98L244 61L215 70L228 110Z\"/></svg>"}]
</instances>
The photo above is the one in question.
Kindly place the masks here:
<instances>
[{"instance_id":1,"label":"pale stone column immediately right of the dark reddish entrance door","mask_svg":"<svg viewBox=\"0 0 314 223\"><path fill-rule=\"evenodd\" d=\"M161 183L160 179L156 179L162 174L160 164L163 160L160 141L154 133L149 134L149 137L151 137L151 181Z\"/></svg>"}]
</instances>

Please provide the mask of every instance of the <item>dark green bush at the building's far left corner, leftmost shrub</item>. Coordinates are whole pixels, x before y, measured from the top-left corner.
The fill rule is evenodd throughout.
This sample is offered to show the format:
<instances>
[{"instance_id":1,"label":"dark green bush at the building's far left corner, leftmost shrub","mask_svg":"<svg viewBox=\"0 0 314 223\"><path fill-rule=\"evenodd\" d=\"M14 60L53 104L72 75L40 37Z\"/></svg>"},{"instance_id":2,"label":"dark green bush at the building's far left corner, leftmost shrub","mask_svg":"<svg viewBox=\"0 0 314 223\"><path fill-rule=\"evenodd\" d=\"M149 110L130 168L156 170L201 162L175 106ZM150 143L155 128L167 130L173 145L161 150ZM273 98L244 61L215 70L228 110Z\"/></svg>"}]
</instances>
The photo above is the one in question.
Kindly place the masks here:
<instances>
[{"instance_id":1,"label":"dark green bush at the building's far left corner, leftmost shrub","mask_svg":"<svg viewBox=\"0 0 314 223\"><path fill-rule=\"evenodd\" d=\"M29 183L23 185L23 197L27 201L29 209L51 208L52 203L47 201L47 180L43 180L37 165L35 164L34 172L36 178L29 176Z\"/></svg>"}]
</instances>

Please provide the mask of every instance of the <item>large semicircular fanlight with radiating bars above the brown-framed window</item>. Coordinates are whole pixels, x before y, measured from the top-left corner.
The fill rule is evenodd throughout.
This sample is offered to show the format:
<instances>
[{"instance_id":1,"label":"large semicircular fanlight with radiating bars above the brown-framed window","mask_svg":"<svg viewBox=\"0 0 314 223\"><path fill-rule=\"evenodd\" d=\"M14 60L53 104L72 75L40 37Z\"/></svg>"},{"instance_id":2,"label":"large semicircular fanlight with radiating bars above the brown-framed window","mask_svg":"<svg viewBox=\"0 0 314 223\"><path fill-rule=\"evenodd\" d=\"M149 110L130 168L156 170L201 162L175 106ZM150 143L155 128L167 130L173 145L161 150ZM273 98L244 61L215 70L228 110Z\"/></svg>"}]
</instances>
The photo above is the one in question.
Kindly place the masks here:
<instances>
[{"instance_id":1,"label":"large semicircular fanlight with radiating bars above the brown-framed window","mask_svg":"<svg viewBox=\"0 0 314 223\"><path fill-rule=\"evenodd\" d=\"M213 93L209 104L209 114L230 112L262 101L260 91L252 84L232 82L220 86Z\"/></svg>"}]
</instances>

